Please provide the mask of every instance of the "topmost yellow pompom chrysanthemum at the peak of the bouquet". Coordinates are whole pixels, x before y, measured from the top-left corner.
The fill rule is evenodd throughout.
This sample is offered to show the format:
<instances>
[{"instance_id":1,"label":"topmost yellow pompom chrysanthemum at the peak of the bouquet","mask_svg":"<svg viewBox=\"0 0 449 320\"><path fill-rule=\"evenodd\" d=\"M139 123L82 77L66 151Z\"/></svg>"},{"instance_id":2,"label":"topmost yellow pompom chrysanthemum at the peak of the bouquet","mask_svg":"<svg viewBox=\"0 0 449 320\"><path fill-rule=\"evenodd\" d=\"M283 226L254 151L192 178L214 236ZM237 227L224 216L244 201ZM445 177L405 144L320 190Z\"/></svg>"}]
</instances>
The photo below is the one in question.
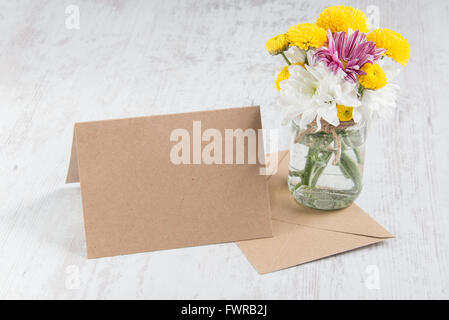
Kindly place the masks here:
<instances>
[{"instance_id":1,"label":"topmost yellow pompom chrysanthemum at the peak of the bouquet","mask_svg":"<svg viewBox=\"0 0 449 320\"><path fill-rule=\"evenodd\" d=\"M369 32L368 20L363 11L348 6L333 6L323 10L316 24L332 32L348 31L348 29Z\"/></svg>"}]
</instances>

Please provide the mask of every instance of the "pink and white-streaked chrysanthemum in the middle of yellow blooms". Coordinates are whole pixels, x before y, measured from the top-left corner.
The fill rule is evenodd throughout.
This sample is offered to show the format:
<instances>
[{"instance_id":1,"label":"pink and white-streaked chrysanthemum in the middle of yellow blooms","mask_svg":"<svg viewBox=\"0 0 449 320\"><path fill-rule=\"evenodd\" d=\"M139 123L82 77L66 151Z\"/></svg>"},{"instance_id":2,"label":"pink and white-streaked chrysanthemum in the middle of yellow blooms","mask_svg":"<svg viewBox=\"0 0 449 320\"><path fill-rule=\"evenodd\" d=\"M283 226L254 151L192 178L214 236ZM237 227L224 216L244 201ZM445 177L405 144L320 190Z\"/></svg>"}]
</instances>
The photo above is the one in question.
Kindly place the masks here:
<instances>
[{"instance_id":1,"label":"pink and white-streaked chrysanthemum in the middle of yellow blooms","mask_svg":"<svg viewBox=\"0 0 449 320\"><path fill-rule=\"evenodd\" d=\"M348 33L327 31L328 47L320 48L313 55L314 62L324 62L334 73L343 70L346 79L356 82L357 75L364 75L365 63L375 63L385 53L376 44L366 40L366 35L358 30Z\"/></svg>"}]
</instances>

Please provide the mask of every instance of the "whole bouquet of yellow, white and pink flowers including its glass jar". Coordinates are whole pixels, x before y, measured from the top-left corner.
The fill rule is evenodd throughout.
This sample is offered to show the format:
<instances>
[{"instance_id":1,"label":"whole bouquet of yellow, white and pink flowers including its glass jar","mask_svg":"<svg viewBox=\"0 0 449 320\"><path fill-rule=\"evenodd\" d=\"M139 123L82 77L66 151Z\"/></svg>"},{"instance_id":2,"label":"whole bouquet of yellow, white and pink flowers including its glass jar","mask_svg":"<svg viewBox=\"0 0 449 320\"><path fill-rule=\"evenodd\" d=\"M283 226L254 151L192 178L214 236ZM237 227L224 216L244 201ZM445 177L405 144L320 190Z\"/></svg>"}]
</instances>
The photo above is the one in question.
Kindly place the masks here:
<instances>
[{"instance_id":1,"label":"whole bouquet of yellow, white and pink flowers including its glass jar","mask_svg":"<svg viewBox=\"0 0 449 320\"><path fill-rule=\"evenodd\" d=\"M408 41L390 29L370 31L359 9L333 6L266 48L287 63L276 87L295 129L290 191L317 209L350 205L361 191L367 124L393 114L399 87L391 81L409 61Z\"/></svg>"}]
</instances>

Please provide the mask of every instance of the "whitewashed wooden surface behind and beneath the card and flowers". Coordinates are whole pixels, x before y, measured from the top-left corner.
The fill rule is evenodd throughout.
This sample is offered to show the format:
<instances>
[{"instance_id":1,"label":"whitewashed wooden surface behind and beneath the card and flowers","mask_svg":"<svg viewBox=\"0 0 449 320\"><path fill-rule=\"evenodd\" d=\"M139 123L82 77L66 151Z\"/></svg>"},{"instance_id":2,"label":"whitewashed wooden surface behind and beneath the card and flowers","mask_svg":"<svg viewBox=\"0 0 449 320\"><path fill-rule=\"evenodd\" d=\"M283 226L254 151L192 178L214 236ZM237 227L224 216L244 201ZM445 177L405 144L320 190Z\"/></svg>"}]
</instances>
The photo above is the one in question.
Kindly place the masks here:
<instances>
[{"instance_id":1,"label":"whitewashed wooden surface behind and beneath the card and flowers","mask_svg":"<svg viewBox=\"0 0 449 320\"><path fill-rule=\"evenodd\" d=\"M73 124L260 104L280 128L265 41L338 2L1 0L0 298L448 298L449 3L343 3L412 46L358 200L397 238L260 276L235 244L87 260Z\"/></svg>"}]
</instances>

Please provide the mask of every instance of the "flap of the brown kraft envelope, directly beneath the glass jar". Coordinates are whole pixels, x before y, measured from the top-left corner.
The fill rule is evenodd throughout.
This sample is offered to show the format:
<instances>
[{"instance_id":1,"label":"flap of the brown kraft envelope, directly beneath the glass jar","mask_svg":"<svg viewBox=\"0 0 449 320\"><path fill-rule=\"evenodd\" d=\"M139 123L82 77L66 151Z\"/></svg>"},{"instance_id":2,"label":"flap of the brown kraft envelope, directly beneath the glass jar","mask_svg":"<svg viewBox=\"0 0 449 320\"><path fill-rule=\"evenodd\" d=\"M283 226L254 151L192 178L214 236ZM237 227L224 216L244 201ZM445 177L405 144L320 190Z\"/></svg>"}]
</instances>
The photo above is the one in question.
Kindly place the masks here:
<instances>
[{"instance_id":1,"label":"flap of the brown kraft envelope, directly beneath the glass jar","mask_svg":"<svg viewBox=\"0 0 449 320\"><path fill-rule=\"evenodd\" d=\"M289 158L288 154L280 154L278 171L269 179L273 220L376 238L393 237L355 204L337 211L319 211L299 205L287 186Z\"/></svg>"}]
</instances>

